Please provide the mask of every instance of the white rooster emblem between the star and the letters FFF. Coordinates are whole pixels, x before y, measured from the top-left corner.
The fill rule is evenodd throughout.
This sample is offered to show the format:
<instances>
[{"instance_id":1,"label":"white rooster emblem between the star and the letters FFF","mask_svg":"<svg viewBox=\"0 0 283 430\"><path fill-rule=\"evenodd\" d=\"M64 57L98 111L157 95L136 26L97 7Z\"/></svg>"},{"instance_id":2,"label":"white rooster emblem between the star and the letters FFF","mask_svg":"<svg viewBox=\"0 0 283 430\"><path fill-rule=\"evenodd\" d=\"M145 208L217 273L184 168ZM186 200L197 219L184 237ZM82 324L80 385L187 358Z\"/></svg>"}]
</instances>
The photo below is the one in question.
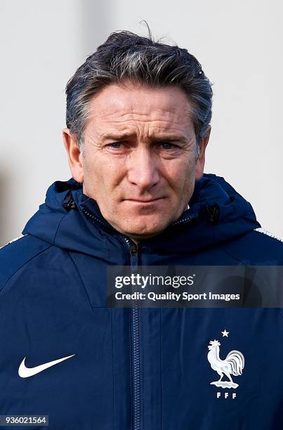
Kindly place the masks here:
<instances>
[{"instance_id":1,"label":"white rooster emblem between the star and the letters FFF","mask_svg":"<svg viewBox=\"0 0 283 430\"><path fill-rule=\"evenodd\" d=\"M232 381L231 374L233 376L239 376L242 374L244 369L244 356L241 352L235 351L234 349L228 353L225 360L219 358L219 346L221 343L217 340L209 342L209 353L207 354L207 359L211 365L211 369L215 370L220 379L218 381L211 382L211 385L221 386L222 388L237 388L239 384L235 384ZM222 381L223 376L228 377L229 381Z\"/></svg>"}]
</instances>

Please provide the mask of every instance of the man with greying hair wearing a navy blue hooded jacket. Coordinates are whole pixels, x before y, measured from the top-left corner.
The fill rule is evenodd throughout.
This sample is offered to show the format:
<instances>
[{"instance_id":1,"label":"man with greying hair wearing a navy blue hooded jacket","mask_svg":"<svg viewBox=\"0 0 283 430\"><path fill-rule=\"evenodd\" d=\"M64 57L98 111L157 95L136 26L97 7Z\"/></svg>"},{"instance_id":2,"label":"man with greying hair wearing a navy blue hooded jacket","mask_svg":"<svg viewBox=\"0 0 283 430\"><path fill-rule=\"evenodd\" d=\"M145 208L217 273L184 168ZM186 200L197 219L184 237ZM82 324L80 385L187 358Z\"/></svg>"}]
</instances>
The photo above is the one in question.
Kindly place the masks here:
<instances>
[{"instance_id":1,"label":"man with greying hair wearing a navy blue hooded jacket","mask_svg":"<svg viewBox=\"0 0 283 430\"><path fill-rule=\"evenodd\" d=\"M283 263L250 204L203 174L201 65L117 32L66 92L72 179L1 249L0 414L48 415L51 429L281 429L280 308L107 307L107 266Z\"/></svg>"}]
</instances>

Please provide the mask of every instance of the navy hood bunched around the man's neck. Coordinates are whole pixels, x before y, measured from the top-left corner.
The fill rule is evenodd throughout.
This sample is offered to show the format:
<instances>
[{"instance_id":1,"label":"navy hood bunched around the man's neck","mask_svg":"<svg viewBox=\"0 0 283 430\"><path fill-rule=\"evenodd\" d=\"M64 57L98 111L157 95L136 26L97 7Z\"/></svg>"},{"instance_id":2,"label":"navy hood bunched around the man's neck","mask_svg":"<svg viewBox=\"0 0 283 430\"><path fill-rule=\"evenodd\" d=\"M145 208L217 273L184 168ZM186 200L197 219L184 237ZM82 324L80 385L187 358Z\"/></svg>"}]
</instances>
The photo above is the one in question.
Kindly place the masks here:
<instances>
[{"instance_id":1,"label":"navy hood bunched around the man's neck","mask_svg":"<svg viewBox=\"0 0 283 430\"><path fill-rule=\"evenodd\" d=\"M213 174L204 174L195 183L189 204L190 209L180 219L159 235L142 241L149 252L195 252L260 227L251 204L223 178ZM81 183L74 179L56 181L48 188L45 203L29 219L22 233L107 261L106 242L121 236L103 218L96 201L84 195Z\"/></svg>"}]
</instances>

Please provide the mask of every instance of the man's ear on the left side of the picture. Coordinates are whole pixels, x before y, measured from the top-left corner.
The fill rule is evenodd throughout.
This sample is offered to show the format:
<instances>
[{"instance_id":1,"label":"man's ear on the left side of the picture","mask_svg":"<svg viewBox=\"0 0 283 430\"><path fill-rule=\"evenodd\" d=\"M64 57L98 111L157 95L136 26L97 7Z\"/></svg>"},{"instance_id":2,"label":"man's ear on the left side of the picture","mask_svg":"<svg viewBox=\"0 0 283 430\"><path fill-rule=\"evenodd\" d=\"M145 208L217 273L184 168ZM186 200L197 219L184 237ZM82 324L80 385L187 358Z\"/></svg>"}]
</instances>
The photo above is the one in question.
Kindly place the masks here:
<instances>
[{"instance_id":1,"label":"man's ear on the left side of the picture","mask_svg":"<svg viewBox=\"0 0 283 430\"><path fill-rule=\"evenodd\" d=\"M72 177L77 182L84 181L84 171L82 165L82 153L77 143L77 138L71 133L70 129L63 129L63 141L67 151Z\"/></svg>"}]
</instances>

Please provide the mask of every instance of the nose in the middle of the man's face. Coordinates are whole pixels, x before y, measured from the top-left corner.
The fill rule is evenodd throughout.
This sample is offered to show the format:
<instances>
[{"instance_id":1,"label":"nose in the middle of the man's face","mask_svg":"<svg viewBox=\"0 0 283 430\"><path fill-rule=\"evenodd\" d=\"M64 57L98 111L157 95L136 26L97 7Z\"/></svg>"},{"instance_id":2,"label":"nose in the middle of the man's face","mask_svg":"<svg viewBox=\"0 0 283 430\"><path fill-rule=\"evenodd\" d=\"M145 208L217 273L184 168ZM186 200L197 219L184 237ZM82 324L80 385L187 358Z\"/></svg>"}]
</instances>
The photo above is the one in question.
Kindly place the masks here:
<instances>
[{"instance_id":1,"label":"nose in the middle of the man's face","mask_svg":"<svg viewBox=\"0 0 283 430\"><path fill-rule=\"evenodd\" d=\"M128 181L138 185L140 193L150 190L159 181L158 159L150 150L136 148L126 161Z\"/></svg>"}]
</instances>

